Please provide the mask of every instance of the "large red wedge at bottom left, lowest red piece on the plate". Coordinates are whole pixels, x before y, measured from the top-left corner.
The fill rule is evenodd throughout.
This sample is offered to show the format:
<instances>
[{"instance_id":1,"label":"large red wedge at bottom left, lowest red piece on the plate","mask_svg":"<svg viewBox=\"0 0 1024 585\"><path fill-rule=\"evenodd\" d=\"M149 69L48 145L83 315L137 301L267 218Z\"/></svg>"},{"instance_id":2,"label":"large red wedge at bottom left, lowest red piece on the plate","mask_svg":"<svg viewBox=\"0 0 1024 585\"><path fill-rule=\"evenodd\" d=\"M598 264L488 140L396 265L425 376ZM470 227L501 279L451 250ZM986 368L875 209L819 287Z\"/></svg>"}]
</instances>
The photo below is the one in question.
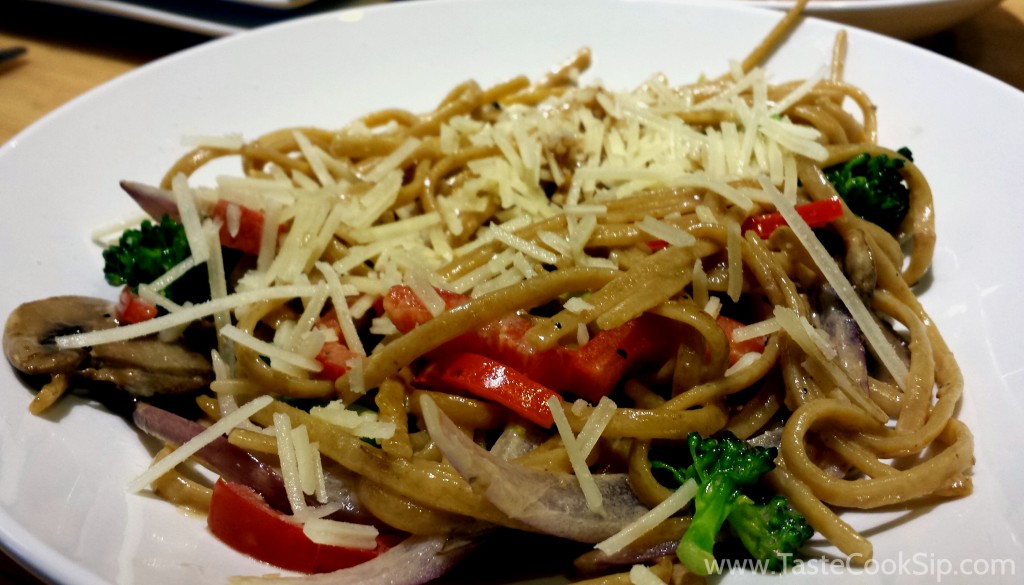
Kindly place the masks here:
<instances>
[{"instance_id":1,"label":"large red wedge at bottom left, lowest red piece on the plate","mask_svg":"<svg viewBox=\"0 0 1024 585\"><path fill-rule=\"evenodd\" d=\"M300 573L330 573L354 567L389 548L377 538L377 548L357 549L318 544L302 527L271 508L252 488L217 479L207 526L224 544L263 562Z\"/></svg>"}]
</instances>

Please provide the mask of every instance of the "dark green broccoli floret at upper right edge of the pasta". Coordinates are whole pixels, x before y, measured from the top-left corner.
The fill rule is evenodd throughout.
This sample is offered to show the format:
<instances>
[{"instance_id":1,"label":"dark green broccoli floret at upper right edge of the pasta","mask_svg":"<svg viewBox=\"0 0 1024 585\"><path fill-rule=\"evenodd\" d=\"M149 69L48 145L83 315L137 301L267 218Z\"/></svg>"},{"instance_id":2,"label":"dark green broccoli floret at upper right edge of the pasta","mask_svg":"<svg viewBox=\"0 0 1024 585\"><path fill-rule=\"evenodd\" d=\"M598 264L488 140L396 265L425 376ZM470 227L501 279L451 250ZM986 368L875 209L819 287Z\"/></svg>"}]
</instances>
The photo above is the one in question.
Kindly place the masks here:
<instances>
[{"instance_id":1,"label":"dark green broccoli floret at upper right edge of the pasta","mask_svg":"<svg viewBox=\"0 0 1024 585\"><path fill-rule=\"evenodd\" d=\"M825 178L850 211L890 233L899 229L910 209L910 190L900 169L905 161L913 161L913 158L905 147L897 152L902 158L861 153L824 169Z\"/></svg>"}]
</instances>

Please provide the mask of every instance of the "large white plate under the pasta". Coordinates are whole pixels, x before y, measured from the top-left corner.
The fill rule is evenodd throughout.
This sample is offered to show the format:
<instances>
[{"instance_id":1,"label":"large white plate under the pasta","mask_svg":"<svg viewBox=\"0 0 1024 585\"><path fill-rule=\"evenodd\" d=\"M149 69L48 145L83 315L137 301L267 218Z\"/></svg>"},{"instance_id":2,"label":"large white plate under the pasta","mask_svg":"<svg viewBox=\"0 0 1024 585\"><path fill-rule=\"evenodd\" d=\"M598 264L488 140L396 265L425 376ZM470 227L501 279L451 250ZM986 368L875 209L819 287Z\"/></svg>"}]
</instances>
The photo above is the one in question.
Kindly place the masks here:
<instances>
[{"instance_id":1,"label":"large white plate under the pasta","mask_svg":"<svg viewBox=\"0 0 1024 585\"><path fill-rule=\"evenodd\" d=\"M625 88L662 71L682 83L724 71L778 17L721 3L411 2L294 20L163 59L0 149L0 315L53 294L112 297L90 234L135 212L118 181L156 181L184 152L181 136L337 127L384 107L423 111L461 81L536 76L585 45L595 54L588 79ZM772 79L818 71L837 29L805 22L772 58ZM1024 573L1024 463L1014 453L1024 420L1024 269L1015 260L1024 256L1016 170L1024 93L858 31L847 77L878 105L882 140L911 147L935 192L939 244L923 300L967 379L961 416L977 435L976 492L934 508L847 514L867 530L879 565L867 574L814 567L858 584L911 583L912 572L935 583L946 568L977 574L1013 563ZM120 419L81 405L33 417L31 395L8 369L0 372L0 541L16 557L57 583L82 585L220 585L267 570L220 545L203 519L125 493L150 453ZM504 561L521 563L521 554ZM984 582L1017 582L1019 573Z\"/></svg>"}]
</instances>

